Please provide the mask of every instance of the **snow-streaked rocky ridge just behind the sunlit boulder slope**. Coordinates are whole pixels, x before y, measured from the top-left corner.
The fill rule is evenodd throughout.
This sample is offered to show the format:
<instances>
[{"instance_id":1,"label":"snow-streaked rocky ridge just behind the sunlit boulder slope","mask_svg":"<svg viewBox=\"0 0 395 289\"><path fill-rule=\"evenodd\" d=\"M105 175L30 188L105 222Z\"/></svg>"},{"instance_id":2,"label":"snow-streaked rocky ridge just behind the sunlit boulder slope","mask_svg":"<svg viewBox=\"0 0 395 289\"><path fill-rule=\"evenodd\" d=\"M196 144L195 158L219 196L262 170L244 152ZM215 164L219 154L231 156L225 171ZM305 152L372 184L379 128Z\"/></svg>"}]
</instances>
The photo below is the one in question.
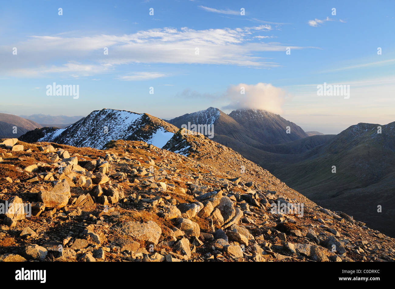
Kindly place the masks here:
<instances>
[{"instance_id":1,"label":"snow-streaked rocky ridge just behind the sunlit boulder slope","mask_svg":"<svg viewBox=\"0 0 395 289\"><path fill-rule=\"evenodd\" d=\"M44 129L46 132L42 133ZM113 109L95 110L66 129L44 129L29 132L21 140L94 148L102 148L111 140L143 140L162 147L178 131L173 125L149 114Z\"/></svg>"}]
</instances>

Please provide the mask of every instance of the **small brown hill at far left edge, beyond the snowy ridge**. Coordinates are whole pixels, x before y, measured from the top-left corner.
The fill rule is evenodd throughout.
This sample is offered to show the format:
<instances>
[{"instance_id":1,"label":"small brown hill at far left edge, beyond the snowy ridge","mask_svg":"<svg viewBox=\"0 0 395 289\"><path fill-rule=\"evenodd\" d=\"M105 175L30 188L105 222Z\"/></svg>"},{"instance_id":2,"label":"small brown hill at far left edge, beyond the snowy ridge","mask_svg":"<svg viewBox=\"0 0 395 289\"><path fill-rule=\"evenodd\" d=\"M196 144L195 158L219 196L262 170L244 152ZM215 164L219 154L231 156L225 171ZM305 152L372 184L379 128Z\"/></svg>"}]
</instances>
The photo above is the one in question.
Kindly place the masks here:
<instances>
[{"instance_id":1,"label":"small brown hill at far left edge, beyond the snowy ridge","mask_svg":"<svg viewBox=\"0 0 395 289\"><path fill-rule=\"evenodd\" d=\"M14 134L15 127L17 133ZM42 126L29 119L13 114L0 114L0 138L18 138L22 134L40 127Z\"/></svg>"}]
</instances>

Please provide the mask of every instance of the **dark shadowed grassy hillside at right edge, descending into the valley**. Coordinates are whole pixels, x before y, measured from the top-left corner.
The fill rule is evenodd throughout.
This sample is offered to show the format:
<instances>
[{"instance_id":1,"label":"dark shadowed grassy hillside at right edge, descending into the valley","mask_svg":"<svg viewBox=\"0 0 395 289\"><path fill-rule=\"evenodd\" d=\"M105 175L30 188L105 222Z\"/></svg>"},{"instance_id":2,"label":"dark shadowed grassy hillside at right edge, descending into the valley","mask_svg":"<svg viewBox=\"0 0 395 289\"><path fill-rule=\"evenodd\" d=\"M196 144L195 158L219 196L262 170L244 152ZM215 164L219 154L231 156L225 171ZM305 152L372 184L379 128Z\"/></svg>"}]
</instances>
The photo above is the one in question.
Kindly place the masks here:
<instances>
[{"instance_id":1,"label":"dark shadowed grassy hillside at right edge, descending into the valley","mask_svg":"<svg viewBox=\"0 0 395 289\"><path fill-rule=\"evenodd\" d=\"M359 123L304 153L261 154L256 162L317 203L394 236L395 122L382 133L378 126Z\"/></svg>"}]
</instances>

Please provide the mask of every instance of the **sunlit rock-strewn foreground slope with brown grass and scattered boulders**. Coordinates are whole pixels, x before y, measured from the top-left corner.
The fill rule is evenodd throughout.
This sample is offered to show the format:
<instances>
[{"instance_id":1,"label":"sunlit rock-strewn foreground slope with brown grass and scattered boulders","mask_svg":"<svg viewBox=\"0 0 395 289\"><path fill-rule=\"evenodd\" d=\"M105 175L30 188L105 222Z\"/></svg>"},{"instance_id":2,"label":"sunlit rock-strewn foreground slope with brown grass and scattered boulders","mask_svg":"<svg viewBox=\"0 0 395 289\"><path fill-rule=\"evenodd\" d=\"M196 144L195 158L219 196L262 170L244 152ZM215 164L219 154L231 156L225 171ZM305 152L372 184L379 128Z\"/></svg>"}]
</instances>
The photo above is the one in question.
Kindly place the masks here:
<instances>
[{"instance_id":1,"label":"sunlit rock-strewn foreground slope with brown grass and scattered boulders","mask_svg":"<svg viewBox=\"0 0 395 289\"><path fill-rule=\"evenodd\" d=\"M0 261L395 260L393 238L182 132L164 149L2 140Z\"/></svg>"}]
</instances>

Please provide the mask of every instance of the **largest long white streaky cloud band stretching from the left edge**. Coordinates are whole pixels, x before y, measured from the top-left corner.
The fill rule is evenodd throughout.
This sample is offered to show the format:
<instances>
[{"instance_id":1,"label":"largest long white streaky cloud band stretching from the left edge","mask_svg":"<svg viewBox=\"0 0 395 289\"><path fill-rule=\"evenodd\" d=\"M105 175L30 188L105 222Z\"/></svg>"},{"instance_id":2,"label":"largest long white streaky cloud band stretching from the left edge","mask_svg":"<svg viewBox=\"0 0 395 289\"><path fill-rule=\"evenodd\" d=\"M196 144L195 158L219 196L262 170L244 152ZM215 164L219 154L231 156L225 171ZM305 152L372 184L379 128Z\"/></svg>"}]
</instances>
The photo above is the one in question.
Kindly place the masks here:
<instances>
[{"instance_id":1,"label":"largest long white streaky cloud band stretching from the left edge","mask_svg":"<svg viewBox=\"0 0 395 289\"><path fill-rule=\"evenodd\" d=\"M194 30L188 27L156 28L125 35L33 35L20 43L0 46L0 75L15 77L93 76L117 73L138 63L214 64L256 68L281 67L267 61L270 52L285 51L278 42L257 42L275 37L256 35L272 31L270 24L243 28ZM255 38L257 37L257 38ZM10 47L24 53L9 57ZM103 50L108 48L108 54ZM265 55L267 54L267 55ZM15 60L18 61L15 61ZM134 78L147 76L134 76Z\"/></svg>"}]
</instances>

